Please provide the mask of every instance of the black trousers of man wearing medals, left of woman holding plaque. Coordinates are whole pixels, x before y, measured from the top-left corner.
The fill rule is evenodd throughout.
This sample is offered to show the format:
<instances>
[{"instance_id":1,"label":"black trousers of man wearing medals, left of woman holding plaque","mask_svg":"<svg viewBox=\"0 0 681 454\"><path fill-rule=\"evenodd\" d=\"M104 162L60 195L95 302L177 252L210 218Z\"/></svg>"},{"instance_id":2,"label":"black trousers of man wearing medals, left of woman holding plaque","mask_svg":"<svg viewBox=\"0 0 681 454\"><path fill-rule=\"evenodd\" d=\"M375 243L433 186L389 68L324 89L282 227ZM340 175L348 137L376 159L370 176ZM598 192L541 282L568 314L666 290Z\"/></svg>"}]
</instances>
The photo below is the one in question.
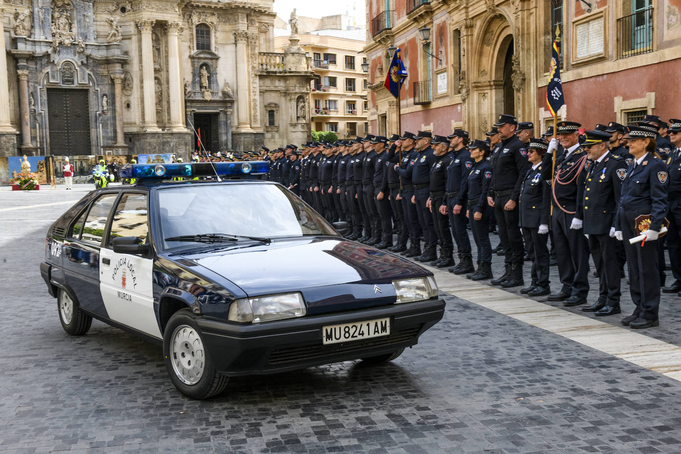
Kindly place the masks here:
<instances>
[{"instance_id":1,"label":"black trousers of man wearing medals, left of woman holding plaque","mask_svg":"<svg viewBox=\"0 0 681 454\"><path fill-rule=\"evenodd\" d=\"M599 274L599 301L607 302L608 306L619 306L622 290L620 284L620 267L617 263L617 240L609 233L603 235L589 235L589 250L594 259L596 271Z\"/></svg>"}]
</instances>

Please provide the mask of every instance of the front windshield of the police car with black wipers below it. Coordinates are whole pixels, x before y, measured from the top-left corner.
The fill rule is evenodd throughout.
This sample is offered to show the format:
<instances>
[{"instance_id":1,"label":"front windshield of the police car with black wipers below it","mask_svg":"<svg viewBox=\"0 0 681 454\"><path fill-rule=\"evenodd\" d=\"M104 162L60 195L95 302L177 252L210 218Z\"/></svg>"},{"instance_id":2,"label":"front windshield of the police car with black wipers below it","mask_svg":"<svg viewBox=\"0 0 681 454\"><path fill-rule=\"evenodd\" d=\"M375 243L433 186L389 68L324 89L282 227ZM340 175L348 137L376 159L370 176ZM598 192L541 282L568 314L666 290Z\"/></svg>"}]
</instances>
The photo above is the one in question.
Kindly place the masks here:
<instances>
[{"instance_id":1,"label":"front windshield of the police car with black wipers below it","mask_svg":"<svg viewBox=\"0 0 681 454\"><path fill-rule=\"evenodd\" d=\"M197 246L212 235L278 238L336 235L317 212L275 184L187 184L156 191L163 248ZM168 238L176 240L166 241ZM219 239L219 238L218 238ZM238 238L238 240L244 240Z\"/></svg>"}]
</instances>

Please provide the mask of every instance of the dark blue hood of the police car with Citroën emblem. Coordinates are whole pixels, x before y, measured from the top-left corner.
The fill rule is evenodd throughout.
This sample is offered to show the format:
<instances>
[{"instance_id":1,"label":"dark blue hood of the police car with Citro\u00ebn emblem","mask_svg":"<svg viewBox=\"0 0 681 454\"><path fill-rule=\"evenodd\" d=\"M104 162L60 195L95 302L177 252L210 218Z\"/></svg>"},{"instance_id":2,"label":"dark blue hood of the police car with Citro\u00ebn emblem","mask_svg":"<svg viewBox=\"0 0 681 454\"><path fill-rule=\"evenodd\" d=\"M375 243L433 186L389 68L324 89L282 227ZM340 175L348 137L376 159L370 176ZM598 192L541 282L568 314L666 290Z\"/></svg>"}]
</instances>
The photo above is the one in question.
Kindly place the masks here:
<instances>
[{"instance_id":1,"label":"dark blue hood of the police car with Citro\u00ebn emblem","mask_svg":"<svg viewBox=\"0 0 681 454\"><path fill-rule=\"evenodd\" d=\"M394 304L396 279L427 276L422 267L383 250L334 237L275 240L176 253L249 297L300 291L308 314ZM198 271L198 270L197 270Z\"/></svg>"}]
</instances>

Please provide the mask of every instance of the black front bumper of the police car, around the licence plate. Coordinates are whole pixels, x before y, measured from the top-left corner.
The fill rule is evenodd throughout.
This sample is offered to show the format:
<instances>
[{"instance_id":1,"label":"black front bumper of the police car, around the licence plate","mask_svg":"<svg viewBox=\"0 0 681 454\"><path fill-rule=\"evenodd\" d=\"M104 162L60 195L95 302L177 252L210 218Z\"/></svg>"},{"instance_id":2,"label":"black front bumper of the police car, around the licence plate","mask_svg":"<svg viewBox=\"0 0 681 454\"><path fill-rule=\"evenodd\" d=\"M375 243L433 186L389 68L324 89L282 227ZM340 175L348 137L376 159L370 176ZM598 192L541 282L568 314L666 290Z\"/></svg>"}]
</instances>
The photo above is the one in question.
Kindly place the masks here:
<instances>
[{"instance_id":1,"label":"black front bumper of the police car, around the licence plate","mask_svg":"<svg viewBox=\"0 0 681 454\"><path fill-rule=\"evenodd\" d=\"M444 312L442 299L428 299L251 325L202 318L196 322L215 368L221 374L238 376L273 374L391 353L415 345ZM322 344L322 327L385 317L390 317L389 336Z\"/></svg>"}]
</instances>

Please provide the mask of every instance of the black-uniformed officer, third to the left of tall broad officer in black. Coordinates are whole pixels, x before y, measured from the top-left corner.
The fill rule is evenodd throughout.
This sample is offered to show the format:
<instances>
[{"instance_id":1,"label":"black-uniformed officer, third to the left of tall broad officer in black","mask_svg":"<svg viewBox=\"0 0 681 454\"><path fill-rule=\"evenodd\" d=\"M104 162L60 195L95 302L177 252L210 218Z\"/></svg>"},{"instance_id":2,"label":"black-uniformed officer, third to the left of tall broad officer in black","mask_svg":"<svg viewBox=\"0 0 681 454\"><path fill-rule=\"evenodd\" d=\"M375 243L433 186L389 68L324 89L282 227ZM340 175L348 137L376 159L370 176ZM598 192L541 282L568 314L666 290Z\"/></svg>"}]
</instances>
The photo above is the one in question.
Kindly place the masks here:
<instances>
[{"instance_id":1,"label":"black-uniformed officer, third to the left of tall broad officer in black","mask_svg":"<svg viewBox=\"0 0 681 454\"><path fill-rule=\"evenodd\" d=\"M447 167L452 163L452 152L449 152L449 139L443 135L435 135L430 141L435 161L430 167L430 197L426 206L432 215L432 223L435 233L440 242L440 256L430 262L430 265L439 268L454 266L454 243L452 232L449 231L449 218L447 218L445 193L447 192ZM445 213L441 208L445 208Z\"/></svg>"}]
</instances>

